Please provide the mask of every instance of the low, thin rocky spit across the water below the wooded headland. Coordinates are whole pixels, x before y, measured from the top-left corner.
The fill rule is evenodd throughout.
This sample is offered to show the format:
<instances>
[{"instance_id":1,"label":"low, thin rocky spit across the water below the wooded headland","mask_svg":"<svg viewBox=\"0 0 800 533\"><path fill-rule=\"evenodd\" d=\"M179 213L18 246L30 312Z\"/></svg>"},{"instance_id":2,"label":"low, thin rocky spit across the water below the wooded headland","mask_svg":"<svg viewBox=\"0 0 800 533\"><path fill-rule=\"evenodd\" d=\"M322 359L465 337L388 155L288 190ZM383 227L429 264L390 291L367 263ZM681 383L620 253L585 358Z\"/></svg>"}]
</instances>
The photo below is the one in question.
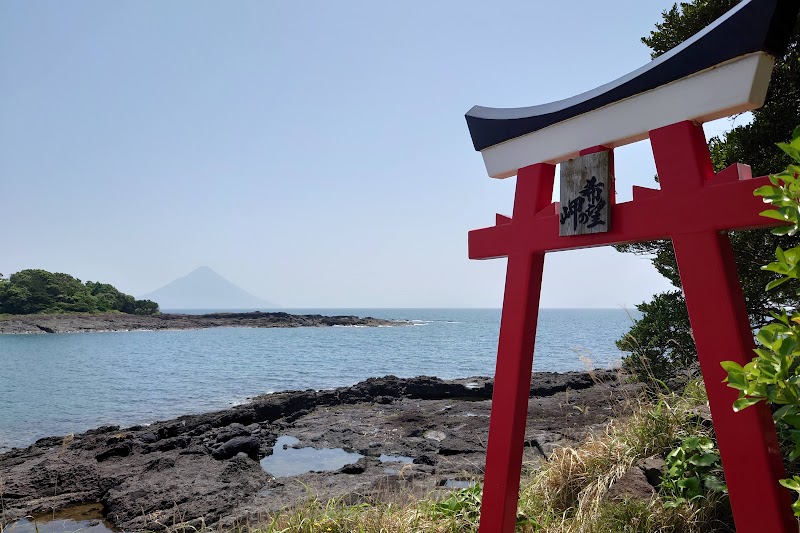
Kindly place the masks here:
<instances>
[{"instance_id":1,"label":"low, thin rocky spit across the water below the wooded headland","mask_svg":"<svg viewBox=\"0 0 800 533\"><path fill-rule=\"evenodd\" d=\"M205 315L125 313L12 315L0 318L0 334L83 333L99 331L183 330L219 327L296 328L397 326L406 322L372 317L292 315L289 313L211 313Z\"/></svg>"}]
</instances>

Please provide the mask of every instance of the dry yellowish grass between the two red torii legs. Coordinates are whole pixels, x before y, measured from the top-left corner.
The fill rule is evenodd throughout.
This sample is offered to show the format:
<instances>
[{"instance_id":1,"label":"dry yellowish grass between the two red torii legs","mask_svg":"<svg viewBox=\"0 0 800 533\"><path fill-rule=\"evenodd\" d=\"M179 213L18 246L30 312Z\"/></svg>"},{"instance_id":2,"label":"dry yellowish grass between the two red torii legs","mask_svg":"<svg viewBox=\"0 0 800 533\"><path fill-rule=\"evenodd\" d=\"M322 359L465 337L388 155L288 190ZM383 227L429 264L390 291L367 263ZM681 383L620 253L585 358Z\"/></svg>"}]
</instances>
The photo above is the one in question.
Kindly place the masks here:
<instances>
[{"instance_id":1,"label":"dry yellowish grass between the two red torii legs","mask_svg":"<svg viewBox=\"0 0 800 533\"><path fill-rule=\"evenodd\" d=\"M669 498L611 501L609 488L640 459L664 456L683 437L708 435L696 415L707 402L704 388L690 384L681 395L662 393L639 400L625 420L615 420L601 435L577 448L556 450L548 463L523 483L518 515L530 527L547 532L700 532L725 530L727 501L709 496L671 507Z\"/></svg>"}]
</instances>

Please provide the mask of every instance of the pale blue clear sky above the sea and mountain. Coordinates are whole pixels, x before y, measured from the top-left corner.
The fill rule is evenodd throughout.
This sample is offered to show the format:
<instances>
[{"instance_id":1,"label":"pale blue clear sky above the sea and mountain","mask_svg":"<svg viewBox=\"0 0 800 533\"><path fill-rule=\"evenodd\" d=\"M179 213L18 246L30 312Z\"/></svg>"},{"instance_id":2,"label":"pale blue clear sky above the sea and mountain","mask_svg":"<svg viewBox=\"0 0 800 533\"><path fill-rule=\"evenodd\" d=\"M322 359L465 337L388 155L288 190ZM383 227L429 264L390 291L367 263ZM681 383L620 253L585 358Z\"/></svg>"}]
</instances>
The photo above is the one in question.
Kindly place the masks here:
<instances>
[{"instance_id":1,"label":"pale blue clear sky above the sea and mountain","mask_svg":"<svg viewBox=\"0 0 800 533\"><path fill-rule=\"evenodd\" d=\"M470 261L467 232L515 178L487 177L464 113L644 65L671 5L5 0L0 272L138 296L205 265L284 307L500 307L506 262ZM655 186L646 141L615 162L618 202ZM541 305L670 288L643 257L561 252Z\"/></svg>"}]
</instances>

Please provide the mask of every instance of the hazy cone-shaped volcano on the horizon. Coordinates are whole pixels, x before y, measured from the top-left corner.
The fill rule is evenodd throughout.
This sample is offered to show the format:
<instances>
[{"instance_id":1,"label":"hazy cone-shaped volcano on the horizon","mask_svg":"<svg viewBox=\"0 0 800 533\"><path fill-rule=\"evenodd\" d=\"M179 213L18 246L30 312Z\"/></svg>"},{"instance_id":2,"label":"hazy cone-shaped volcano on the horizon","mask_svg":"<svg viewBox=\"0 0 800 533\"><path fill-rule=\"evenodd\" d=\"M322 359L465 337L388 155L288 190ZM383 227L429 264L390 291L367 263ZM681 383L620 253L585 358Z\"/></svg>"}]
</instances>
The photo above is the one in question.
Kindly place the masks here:
<instances>
[{"instance_id":1,"label":"hazy cone-shaped volcano on the horizon","mask_svg":"<svg viewBox=\"0 0 800 533\"><path fill-rule=\"evenodd\" d=\"M208 267L167 283L142 296L161 309L275 309L279 306L253 296Z\"/></svg>"}]
</instances>

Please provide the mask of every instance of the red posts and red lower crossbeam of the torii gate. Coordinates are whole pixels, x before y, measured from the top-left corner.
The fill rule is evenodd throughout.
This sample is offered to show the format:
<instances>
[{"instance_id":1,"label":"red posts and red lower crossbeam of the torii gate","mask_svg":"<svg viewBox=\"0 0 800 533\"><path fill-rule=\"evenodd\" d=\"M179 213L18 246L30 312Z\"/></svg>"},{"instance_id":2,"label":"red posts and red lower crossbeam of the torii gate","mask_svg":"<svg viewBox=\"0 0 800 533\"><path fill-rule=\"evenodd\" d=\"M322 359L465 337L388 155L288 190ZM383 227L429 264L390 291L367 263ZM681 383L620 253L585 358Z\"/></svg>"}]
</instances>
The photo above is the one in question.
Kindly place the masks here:
<instances>
[{"instance_id":1,"label":"red posts and red lower crossbeam of the torii gate","mask_svg":"<svg viewBox=\"0 0 800 533\"><path fill-rule=\"evenodd\" d=\"M797 531L788 492L777 481L784 471L769 409L734 413L736 392L722 383L719 366L744 363L753 348L733 252L721 232L777 224L758 215L764 204L753 196L767 178L747 179L744 165L715 176L702 127L691 122L654 130L650 139L661 190L637 188L633 202L614 207L609 232L560 237L558 204L550 203L554 167L540 164L520 170L510 223L469 233L471 259L508 257L481 533L514 530L544 254L665 238L675 246L737 531Z\"/></svg>"}]
</instances>

